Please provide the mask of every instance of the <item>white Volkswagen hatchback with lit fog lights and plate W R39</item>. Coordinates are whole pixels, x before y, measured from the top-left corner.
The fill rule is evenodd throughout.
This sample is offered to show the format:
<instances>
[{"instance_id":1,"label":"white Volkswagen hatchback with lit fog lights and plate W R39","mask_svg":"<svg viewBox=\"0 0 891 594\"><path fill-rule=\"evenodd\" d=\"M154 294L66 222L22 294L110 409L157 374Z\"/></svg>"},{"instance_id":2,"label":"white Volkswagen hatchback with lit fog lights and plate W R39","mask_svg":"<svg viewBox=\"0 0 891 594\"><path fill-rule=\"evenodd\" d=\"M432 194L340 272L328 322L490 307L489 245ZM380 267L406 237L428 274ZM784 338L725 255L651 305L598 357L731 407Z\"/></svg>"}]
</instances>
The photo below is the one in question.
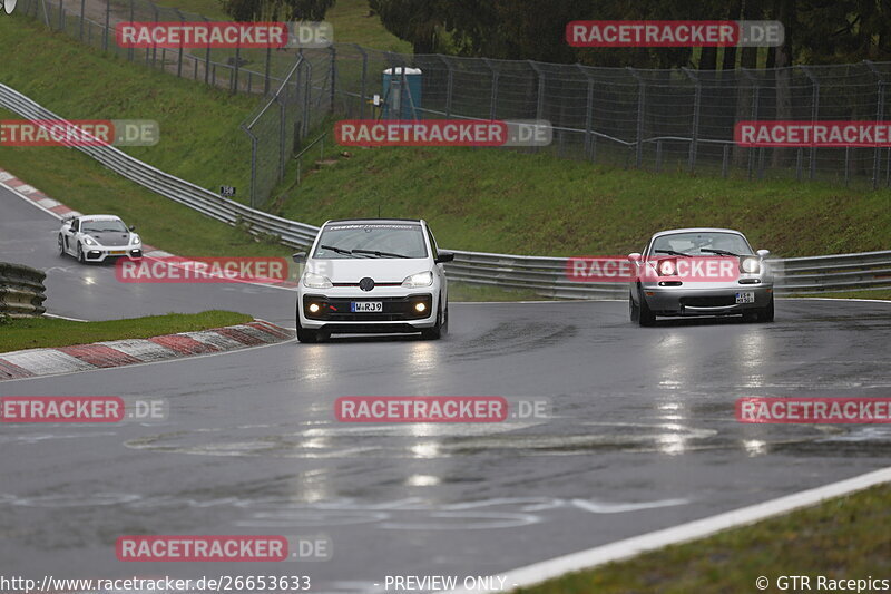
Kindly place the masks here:
<instances>
[{"instance_id":1,"label":"white Volkswagen hatchback with lit fog lights and plate W R39","mask_svg":"<svg viewBox=\"0 0 891 594\"><path fill-rule=\"evenodd\" d=\"M329 221L309 252L297 285L297 339L332 333L420 332L438 339L449 323L441 252L422 220Z\"/></svg>"}]
</instances>

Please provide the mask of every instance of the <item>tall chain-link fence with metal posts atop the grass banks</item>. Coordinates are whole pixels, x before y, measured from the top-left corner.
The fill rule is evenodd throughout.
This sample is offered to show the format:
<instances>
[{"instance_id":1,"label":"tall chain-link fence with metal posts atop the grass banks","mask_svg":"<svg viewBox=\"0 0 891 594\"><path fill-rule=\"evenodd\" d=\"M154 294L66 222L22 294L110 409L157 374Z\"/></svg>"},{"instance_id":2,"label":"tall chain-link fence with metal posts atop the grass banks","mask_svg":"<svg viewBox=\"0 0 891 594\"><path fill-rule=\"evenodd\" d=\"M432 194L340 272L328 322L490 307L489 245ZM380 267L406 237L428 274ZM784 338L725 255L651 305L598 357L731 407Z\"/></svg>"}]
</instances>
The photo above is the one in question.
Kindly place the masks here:
<instances>
[{"instance_id":1,"label":"tall chain-link fence with metal posts atop the grass banks","mask_svg":"<svg viewBox=\"0 0 891 594\"><path fill-rule=\"evenodd\" d=\"M207 19L148 0L20 0L19 7L17 12L126 59L264 96L242 126L253 143L252 204L271 195L301 140L327 115L383 117L386 109L373 98L384 105L394 99L383 85L383 71L393 67L421 71L419 96L403 84L396 97L403 106L409 101L414 117L549 120L552 145L522 150L654 172L891 187L888 147L734 143L741 120L883 120L891 62L701 71L412 56L350 43L304 50L125 49L115 41L118 21ZM404 79L404 68L401 72Z\"/></svg>"}]
</instances>

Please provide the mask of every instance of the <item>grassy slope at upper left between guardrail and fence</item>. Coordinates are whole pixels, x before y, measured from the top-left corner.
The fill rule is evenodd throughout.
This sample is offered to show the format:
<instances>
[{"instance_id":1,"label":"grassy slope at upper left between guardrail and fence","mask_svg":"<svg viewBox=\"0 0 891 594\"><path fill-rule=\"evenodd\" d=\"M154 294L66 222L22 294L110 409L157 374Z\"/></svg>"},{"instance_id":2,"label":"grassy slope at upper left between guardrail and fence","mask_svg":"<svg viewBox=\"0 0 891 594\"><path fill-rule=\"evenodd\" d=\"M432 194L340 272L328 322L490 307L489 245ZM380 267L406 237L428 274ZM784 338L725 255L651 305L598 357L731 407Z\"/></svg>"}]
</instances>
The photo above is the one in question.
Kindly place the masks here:
<instances>
[{"instance_id":1,"label":"grassy slope at upper left between guardrail and fence","mask_svg":"<svg viewBox=\"0 0 891 594\"><path fill-rule=\"evenodd\" d=\"M238 125L256 97L105 55L21 14L0 19L0 39L16 48L0 60L3 84L69 119L154 119L160 142L126 153L202 187L247 194L251 143ZM8 150L0 147L0 163Z\"/></svg>"}]
</instances>

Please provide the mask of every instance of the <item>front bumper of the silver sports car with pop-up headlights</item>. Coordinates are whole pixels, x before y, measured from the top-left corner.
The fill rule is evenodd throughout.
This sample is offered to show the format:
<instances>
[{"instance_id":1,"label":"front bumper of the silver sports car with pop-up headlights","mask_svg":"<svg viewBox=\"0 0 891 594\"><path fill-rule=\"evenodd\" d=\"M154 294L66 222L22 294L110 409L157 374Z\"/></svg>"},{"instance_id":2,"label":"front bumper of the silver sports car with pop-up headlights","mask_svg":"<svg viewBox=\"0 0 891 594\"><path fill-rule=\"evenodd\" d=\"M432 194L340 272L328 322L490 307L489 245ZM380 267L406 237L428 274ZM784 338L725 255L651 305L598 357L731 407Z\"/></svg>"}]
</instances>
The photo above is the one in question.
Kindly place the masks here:
<instances>
[{"instance_id":1,"label":"front bumper of the silver sports car with pop-up headlights","mask_svg":"<svg viewBox=\"0 0 891 594\"><path fill-rule=\"evenodd\" d=\"M766 308L773 296L773 283L718 286L659 286L647 283L642 288L650 311L656 315L733 315ZM709 283L716 284L716 283ZM736 303L736 293L754 293L754 303Z\"/></svg>"}]
</instances>

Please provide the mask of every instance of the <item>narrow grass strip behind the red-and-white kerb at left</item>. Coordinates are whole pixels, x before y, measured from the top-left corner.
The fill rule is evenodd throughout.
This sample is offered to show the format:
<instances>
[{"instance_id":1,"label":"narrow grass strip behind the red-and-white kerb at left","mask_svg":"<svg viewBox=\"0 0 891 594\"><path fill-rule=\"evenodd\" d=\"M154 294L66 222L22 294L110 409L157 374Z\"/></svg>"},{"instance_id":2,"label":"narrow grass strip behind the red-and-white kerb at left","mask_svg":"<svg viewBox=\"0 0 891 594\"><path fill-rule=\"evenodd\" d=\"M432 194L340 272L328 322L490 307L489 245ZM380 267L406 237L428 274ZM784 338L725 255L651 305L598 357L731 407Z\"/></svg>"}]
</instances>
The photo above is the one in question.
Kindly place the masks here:
<instances>
[{"instance_id":1,"label":"narrow grass strip behind the red-and-white kerb at left","mask_svg":"<svg viewBox=\"0 0 891 594\"><path fill-rule=\"evenodd\" d=\"M221 310L104 322L75 322L57 318L0 318L0 352L196 332L243 324L251 320L253 320L251 315Z\"/></svg>"}]
</instances>

